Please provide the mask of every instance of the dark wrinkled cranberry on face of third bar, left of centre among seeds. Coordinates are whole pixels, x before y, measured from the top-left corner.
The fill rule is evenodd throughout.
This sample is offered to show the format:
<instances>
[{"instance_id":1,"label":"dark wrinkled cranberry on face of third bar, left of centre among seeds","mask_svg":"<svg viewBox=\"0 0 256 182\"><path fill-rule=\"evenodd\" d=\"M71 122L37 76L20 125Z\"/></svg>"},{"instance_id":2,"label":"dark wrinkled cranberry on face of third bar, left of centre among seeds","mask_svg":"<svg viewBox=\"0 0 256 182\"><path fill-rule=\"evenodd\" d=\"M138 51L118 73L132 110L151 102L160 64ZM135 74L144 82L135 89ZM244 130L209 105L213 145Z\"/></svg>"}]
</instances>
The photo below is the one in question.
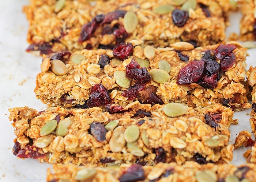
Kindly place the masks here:
<instances>
[{"instance_id":1,"label":"dark wrinkled cranberry on face of third bar, left of centre among seeds","mask_svg":"<svg viewBox=\"0 0 256 182\"><path fill-rule=\"evenodd\" d=\"M93 137L99 141L102 142L106 139L106 128L101 124L100 122L93 122L90 124L90 132Z\"/></svg>"}]
</instances>

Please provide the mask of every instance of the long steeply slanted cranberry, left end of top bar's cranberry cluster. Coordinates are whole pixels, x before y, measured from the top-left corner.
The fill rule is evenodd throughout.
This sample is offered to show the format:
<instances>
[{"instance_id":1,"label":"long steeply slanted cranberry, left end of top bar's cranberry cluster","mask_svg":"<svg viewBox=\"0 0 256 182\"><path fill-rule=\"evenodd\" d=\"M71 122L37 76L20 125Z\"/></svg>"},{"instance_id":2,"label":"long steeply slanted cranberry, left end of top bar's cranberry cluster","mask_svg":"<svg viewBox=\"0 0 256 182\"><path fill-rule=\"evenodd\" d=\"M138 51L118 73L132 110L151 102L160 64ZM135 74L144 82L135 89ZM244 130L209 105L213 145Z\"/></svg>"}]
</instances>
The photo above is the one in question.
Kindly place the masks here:
<instances>
[{"instance_id":1,"label":"long steeply slanted cranberry, left end of top bar's cranberry cluster","mask_svg":"<svg viewBox=\"0 0 256 182\"><path fill-rule=\"evenodd\" d=\"M82 31L79 37L79 43L86 41L93 36L95 30L99 27L101 22L104 20L105 15L97 15L95 16L89 23L84 24L82 27Z\"/></svg>"}]
</instances>

